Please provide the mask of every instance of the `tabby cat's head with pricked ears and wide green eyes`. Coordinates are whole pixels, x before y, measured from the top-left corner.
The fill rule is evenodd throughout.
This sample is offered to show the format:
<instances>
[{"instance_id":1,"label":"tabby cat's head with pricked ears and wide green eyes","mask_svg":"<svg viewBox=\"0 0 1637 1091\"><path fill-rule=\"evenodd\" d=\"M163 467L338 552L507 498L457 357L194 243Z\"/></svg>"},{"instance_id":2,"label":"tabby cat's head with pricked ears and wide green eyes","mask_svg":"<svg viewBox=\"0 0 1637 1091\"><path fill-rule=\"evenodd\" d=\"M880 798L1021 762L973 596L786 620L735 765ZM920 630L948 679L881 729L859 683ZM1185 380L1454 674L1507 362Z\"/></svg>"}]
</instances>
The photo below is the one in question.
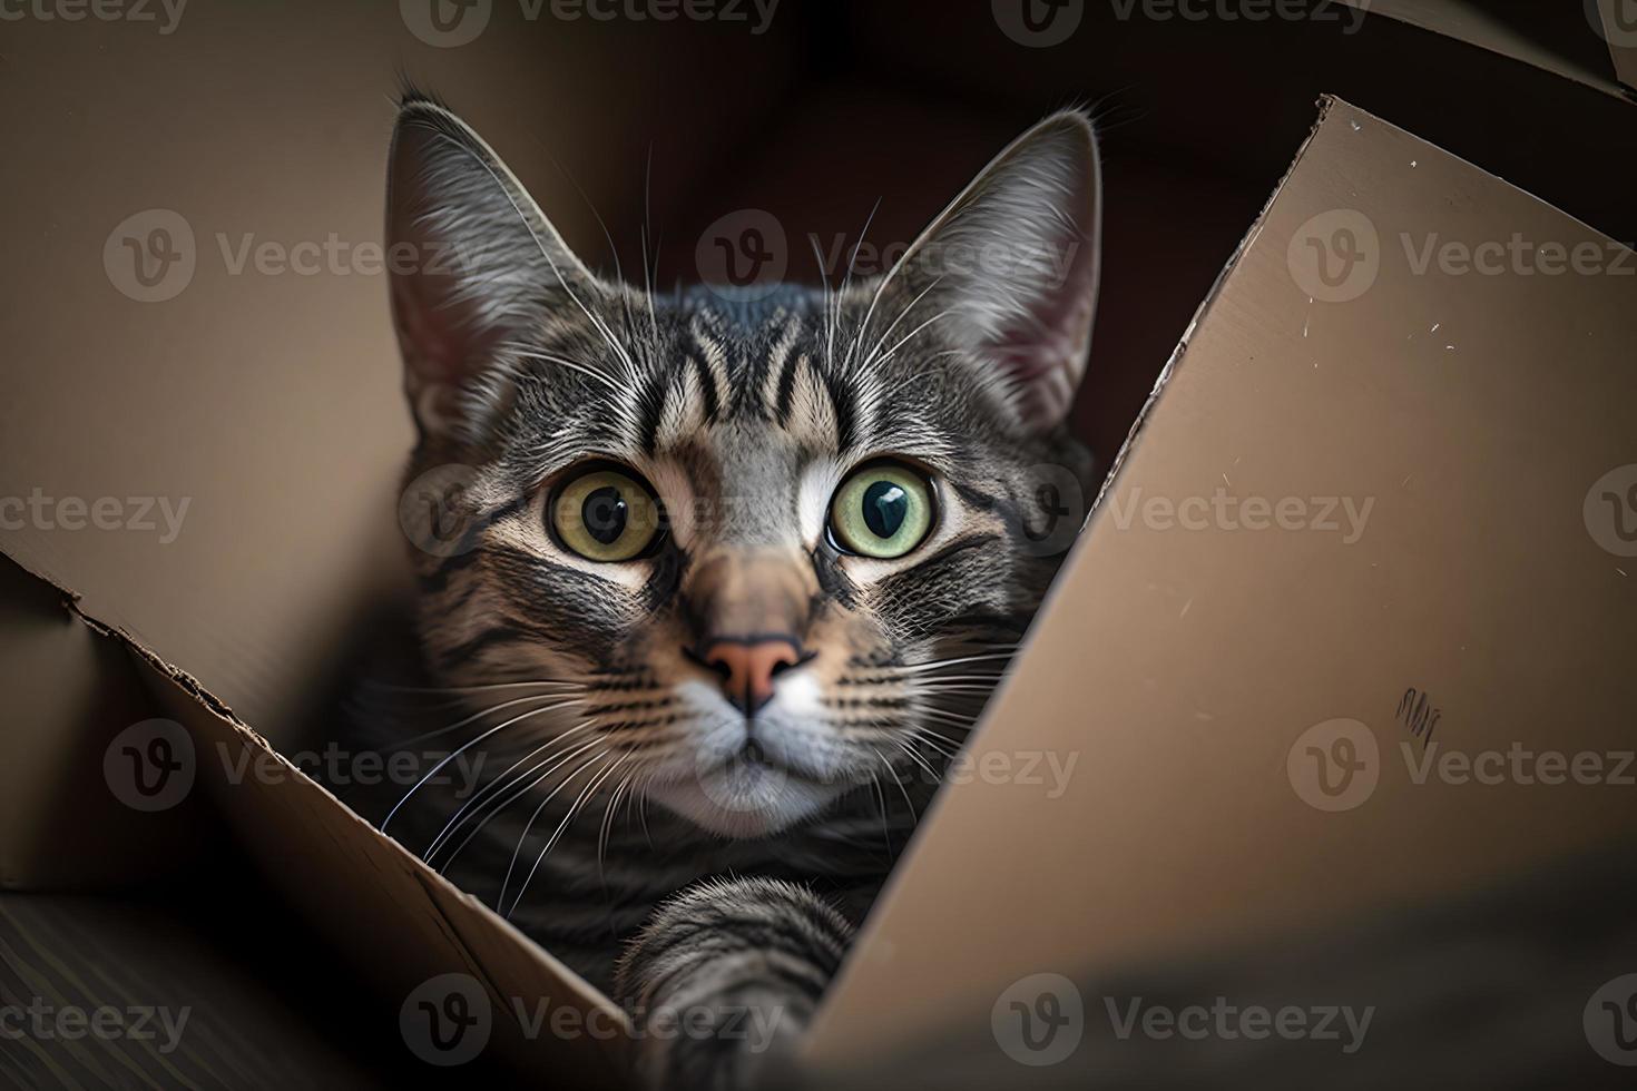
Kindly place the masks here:
<instances>
[{"instance_id":1,"label":"tabby cat's head with pricked ears and wide green eyes","mask_svg":"<svg viewBox=\"0 0 1637 1091\"><path fill-rule=\"evenodd\" d=\"M1090 123L1030 129L889 273L755 299L594 275L431 101L388 182L411 476L460 483L458 548L416 553L439 682L512 702L525 770L728 836L940 769L1084 515Z\"/></svg>"}]
</instances>

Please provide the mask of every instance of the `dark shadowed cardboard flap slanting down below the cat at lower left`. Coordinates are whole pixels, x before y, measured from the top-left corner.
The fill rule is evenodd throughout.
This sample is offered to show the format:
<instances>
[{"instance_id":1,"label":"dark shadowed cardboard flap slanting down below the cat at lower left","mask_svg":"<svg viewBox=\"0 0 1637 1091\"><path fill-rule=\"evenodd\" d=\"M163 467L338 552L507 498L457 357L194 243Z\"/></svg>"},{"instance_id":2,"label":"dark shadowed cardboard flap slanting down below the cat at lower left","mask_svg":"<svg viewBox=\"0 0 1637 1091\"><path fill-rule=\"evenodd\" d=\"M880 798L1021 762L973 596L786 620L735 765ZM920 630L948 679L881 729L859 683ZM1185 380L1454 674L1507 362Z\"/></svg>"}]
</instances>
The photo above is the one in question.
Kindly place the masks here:
<instances>
[{"instance_id":1,"label":"dark shadowed cardboard flap slanting down below the cat at lower left","mask_svg":"<svg viewBox=\"0 0 1637 1091\"><path fill-rule=\"evenodd\" d=\"M561 1086L619 1084L629 1022L606 998L357 818L231 713L213 708L193 679L136 643L129 649L169 715L187 726L193 749L185 761L196 782L211 792L268 882L383 996L408 1003L426 983L463 975L489 1001L485 1055L529 1068L545 1048ZM596 1009L599 1034L542 1045L552 1024L530 1019L565 1008L579 1012L579 1026ZM411 1034L404 1030L406 1040Z\"/></svg>"}]
</instances>

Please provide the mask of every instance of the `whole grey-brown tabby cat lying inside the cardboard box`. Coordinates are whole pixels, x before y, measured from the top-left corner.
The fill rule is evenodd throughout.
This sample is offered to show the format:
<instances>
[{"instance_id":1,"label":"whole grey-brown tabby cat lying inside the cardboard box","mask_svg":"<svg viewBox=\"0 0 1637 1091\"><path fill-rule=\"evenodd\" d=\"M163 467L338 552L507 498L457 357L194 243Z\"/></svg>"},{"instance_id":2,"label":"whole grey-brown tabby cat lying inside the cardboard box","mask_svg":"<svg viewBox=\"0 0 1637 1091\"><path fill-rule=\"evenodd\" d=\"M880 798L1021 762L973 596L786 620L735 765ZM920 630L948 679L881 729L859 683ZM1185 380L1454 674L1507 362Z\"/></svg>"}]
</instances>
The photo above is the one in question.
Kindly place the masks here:
<instances>
[{"instance_id":1,"label":"whole grey-brown tabby cat lying inside the cardboard box","mask_svg":"<svg viewBox=\"0 0 1637 1091\"><path fill-rule=\"evenodd\" d=\"M1092 481L1064 417L1098 185L1059 113L884 276L661 296L403 103L388 234L432 258L391 281L409 474L465 468L460 548L414 551L421 656L503 772L386 829L638 1030L710 1012L638 1039L648 1084L746 1086L787 1052L1039 605L1036 468ZM771 1044L732 1032L751 1011Z\"/></svg>"}]
</instances>

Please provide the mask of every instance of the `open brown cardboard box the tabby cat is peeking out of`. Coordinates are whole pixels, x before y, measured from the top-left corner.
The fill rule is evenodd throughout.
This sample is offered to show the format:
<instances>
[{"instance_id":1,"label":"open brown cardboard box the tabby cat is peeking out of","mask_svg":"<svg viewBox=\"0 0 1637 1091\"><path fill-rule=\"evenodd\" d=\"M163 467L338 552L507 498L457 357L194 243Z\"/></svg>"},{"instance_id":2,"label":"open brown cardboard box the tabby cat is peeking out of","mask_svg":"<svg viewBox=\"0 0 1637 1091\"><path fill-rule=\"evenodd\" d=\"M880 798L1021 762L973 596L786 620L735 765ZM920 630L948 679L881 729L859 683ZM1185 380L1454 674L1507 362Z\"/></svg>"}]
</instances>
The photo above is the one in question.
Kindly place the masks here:
<instances>
[{"instance_id":1,"label":"open brown cardboard box the tabby cat is peeking out of","mask_svg":"<svg viewBox=\"0 0 1637 1091\"><path fill-rule=\"evenodd\" d=\"M886 16L858 10L853 18ZM1396 43L1409 31L1369 33ZM1315 49L1303 62L1323 69L1333 59ZM1468 61L1477 70L1490 62ZM1562 111L1565 126L1614 134L1612 111L1629 110L1612 95L1536 75L1547 97L1585 105ZM321 106L316 97L309 105ZM499 97L486 103L496 114L506 105ZM1244 113L1200 139L1238 139L1265 124ZM1416 113L1414 128L1460 124L1436 113ZM182 141L200 118L167 124L175 129L162 136ZM509 124L525 144L529 124ZM368 159L357 167L359 185L375 186L381 126L362 114L342 126L342 142ZM1509 154L1499 136L1470 139ZM1629 128L1611 136L1629 139ZM1277 147L1280 162L1292 146ZM1531 186L1554 203L1630 214L1616 208L1629 196L1619 172L1588 172L1585 160L1539 170ZM1265 193L1265 180L1246 173L1239 185ZM180 201L203 227L216 227L234 222L221 191L249 186L239 200L277 209L291 188L291 178L270 182L259 168L229 172L228 182L198 180L185 201L149 183L121 208ZM375 237L377 198L350 196L344 226ZM83 258L100 249L115 211L51 224L29 275L75 290L95 280L108 291ZM298 208L259 229L300 237L311 213ZM1324 298L1329 273L1301 265L1303 255L1329 245L1342 260L1336 247L1349 236L1341 232L1359 242L1364 222L1377 239L1373 281L1355 298ZM1434 234L1470 249L1506 244L1514 232L1570 250L1599 247L1608 265L1624 260L1603 236L1499 178L1362 110L1326 106L1166 366L1028 656L974 743L979 761L984 752L1076 754L1067 790L1043 798L982 779L948 788L827 1004L807 1053L815 1073L886 1063L905 1044L951 1029L964 1042L990 1044L997 998L1036 972L1143 965L1308 921L1344 923L1504 882L1629 831L1624 795L1413 783L1398 761L1400 743L1424 754L1426 736L1462 751L1514 741L1565 752L1629 744L1637 690L1621 651L1637 635L1622 574L1632 568L1599 545L1590 520L1604 494L1621 494L1617 481L1598 483L1637 461L1632 281L1411 267ZM1414 244L1408 252L1401 234ZM1193 257L1200 250L1210 245ZM1210 258L1213 268L1220 260ZM15 290L8 298L29 298L20 276L7 288ZM149 826L98 790L100 775L85 777L87 756L105 754L120 731L172 718L187 734L170 744L192 748L214 811L393 999L388 1008L424 981L467 975L491 1006L493 1055L519 1073L550 1070L563 1086L606 1086L620 1070L617 1035L539 1037L512 1001L550 998L584 1019L602 1011L616 1027L622 1016L275 756L300 744L349 630L395 592L378 558L401 551L395 479L409 437L385 301L368 285L347 285L329 311L314 303L329 290L203 276L164 309L121 303L111 311L113 343L138 345L146 370L118 404L59 396L98 381L100 360L64 360L38 330L11 345L20 358L67 371L54 376L56 394L25 399L7 420L7 496L49 481L59 492L129 501L164 481L172 497L195 497L196 507L190 533L164 548L159 514L154 540L38 528L0 538L18 566L7 569L15 589L5 602L25 618L0 628L7 684L38 694L38 712L13 716L8 733L8 756L21 759L0 762L0 775L21 785L3 800L0 880L106 883L128 878L138 860L183 859L187 839L175 829ZM347 324L342 308L380 321ZM224 309L254 319L213 322ZM324 314L332 324L296 337L290 314ZM1133 329L1118 322L1116 314L1103 329ZM193 343L188 358L147 348L185 329L211 339ZM1172 340L1174 332L1159 326L1131 337ZM321 342L324 358L303 357ZM360 363L322 366L337 358ZM219 361L232 366L211 366ZM175 412L178 404L221 406L223 414ZM121 435L129 447L120 450L146 458L110 465L75 430ZM1218 486L1234 501L1306 501L1313 519L1334 497L1328 519L1337 532L1179 527L1175 502L1215 501ZM1172 501L1169 519L1143 497ZM1349 497L1357 515L1373 504L1355 540L1342 541L1354 527L1341 505ZM65 698L83 694L133 703L79 715ZM1396 764L1382 765L1370 798L1329 813L1303 801L1292 762L1300 769L1308 746L1337 752L1341 734L1305 734L1337 720L1364 725L1380 759ZM288 775L231 783L226 769L246 756ZM52 769L82 779L72 806L62 792L41 788L51 782L41 770ZM54 818L67 810L80 819L79 852ZM169 823L178 811L157 815L154 823ZM162 847L121 849L110 834ZM1429 842L1437 854L1406 847Z\"/></svg>"}]
</instances>

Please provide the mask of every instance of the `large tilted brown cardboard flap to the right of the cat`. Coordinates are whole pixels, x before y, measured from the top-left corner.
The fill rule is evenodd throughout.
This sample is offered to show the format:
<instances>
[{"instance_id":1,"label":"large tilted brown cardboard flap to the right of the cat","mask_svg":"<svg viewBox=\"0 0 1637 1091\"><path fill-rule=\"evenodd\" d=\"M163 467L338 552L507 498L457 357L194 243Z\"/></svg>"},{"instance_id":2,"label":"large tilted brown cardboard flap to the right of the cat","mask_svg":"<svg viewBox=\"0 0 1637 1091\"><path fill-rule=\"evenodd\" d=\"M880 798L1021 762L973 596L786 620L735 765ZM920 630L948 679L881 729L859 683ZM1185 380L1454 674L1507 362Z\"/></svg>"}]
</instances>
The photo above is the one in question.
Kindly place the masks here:
<instances>
[{"instance_id":1,"label":"large tilted brown cardboard flap to the right of the cat","mask_svg":"<svg viewBox=\"0 0 1637 1091\"><path fill-rule=\"evenodd\" d=\"M1357 226L1337 209L1373 226L1359 245L1378 272L1316 301L1287 255ZM1069 790L946 788L814 1030L815 1065L863 1063L940 1024L981 1039L1030 973L1300 934L1629 833L1629 788L1409 774L1431 746L1413 730L1431 721L1421 694L1445 752L1632 748L1637 561L1601 548L1583 509L1603 474L1637 463L1637 278L1416 275L1401 245L1514 232L1632 257L1329 105L972 744L979 764L1077 754ZM1131 507L1218 489L1373 507L1352 543L1167 528ZM1321 811L1297 779L1308 733L1341 718L1375 741L1378 783Z\"/></svg>"}]
</instances>

